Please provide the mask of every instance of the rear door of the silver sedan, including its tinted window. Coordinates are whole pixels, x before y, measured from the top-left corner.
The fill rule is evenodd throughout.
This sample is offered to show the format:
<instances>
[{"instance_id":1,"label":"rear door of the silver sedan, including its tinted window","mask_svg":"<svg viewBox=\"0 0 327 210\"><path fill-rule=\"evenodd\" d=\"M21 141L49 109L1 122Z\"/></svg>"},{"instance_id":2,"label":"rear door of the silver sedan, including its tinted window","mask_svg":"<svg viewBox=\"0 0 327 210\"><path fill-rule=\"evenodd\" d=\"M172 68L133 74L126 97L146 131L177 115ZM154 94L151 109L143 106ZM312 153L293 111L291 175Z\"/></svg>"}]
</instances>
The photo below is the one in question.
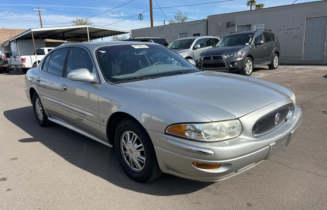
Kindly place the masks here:
<instances>
[{"instance_id":1,"label":"rear door of the silver sedan, including its tinted window","mask_svg":"<svg viewBox=\"0 0 327 210\"><path fill-rule=\"evenodd\" d=\"M36 73L36 87L43 108L48 116L62 119L60 107L60 80L70 47L60 48L49 54L41 70Z\"/></svg>"}]
</instances>

